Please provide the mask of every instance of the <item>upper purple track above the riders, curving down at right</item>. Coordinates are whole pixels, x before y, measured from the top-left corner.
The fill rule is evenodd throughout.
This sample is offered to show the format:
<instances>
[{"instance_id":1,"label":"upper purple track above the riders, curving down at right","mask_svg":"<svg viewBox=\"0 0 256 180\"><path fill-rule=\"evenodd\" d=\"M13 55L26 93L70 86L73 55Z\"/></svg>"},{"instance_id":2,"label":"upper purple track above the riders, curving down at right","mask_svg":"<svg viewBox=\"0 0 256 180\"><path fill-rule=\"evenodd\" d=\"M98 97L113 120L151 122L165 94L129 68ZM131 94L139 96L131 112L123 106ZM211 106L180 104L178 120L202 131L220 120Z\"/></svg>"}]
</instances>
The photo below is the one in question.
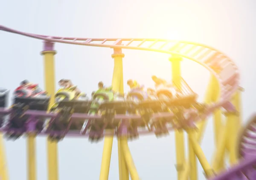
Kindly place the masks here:
<instances>
[{"instance_id":1,"label":"upper purple track above the riders, curving down at right","mask_svg":"<svg viewBox=\"0 0 256 180\"><path fill-rule=\"evenodd\" d=\"M174 56L181 56L193 60L208 69L219 81L221 98L219 106L230 99L231 95L239 87L239 71L236 64L225 54L200 43L186 41L174 41L163 39L127 39L127 38L78 38L56 37L38 34L30 34L0 26L0 30L21 34L27 37L46 40L49 42L76 44L83 46L107 47L113 49L134 49L144 51L156 51ZM125 43L126 42L126 43ZM111 43L111 44L108 44ZM47 49L47 48L46 48Z\"/></svg>"}]
</instances>

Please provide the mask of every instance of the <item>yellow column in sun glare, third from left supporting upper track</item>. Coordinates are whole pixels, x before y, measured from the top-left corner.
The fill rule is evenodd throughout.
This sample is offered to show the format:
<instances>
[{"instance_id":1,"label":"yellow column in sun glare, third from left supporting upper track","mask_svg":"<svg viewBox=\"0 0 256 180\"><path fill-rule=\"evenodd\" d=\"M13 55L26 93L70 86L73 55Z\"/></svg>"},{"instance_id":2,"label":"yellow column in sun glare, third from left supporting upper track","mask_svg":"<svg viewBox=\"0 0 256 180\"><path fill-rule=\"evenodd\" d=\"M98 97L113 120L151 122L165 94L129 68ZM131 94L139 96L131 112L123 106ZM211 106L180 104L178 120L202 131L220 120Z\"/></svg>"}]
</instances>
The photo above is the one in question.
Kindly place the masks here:
<instances>
[{"instance_id":1,"label":"yellow column in sun glare, third from left supporting upper track","mask_svg":"<svg viewBox=\"0 0 256 180\"><path fill-rule=\"evenodd\" d=\"M172 63L172 81L180 86L180 62L182 57L171 57L169 61ZM184 133L183 131L175 131L175 146L176 146L176 169L178 180L181 178L185 163L185 148L184 148Z\"/></svg>"}]
</instances>

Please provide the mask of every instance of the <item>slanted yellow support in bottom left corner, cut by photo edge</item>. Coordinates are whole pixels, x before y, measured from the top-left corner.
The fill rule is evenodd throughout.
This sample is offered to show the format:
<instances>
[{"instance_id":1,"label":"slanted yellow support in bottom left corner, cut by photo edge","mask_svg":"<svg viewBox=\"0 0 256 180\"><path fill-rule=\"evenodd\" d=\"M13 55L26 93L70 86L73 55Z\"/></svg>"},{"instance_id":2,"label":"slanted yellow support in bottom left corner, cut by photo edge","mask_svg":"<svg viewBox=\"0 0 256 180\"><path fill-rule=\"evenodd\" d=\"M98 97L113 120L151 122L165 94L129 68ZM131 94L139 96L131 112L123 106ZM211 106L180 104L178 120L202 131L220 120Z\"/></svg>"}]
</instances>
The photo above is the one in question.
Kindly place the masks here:
<instances>
[{"instance_id":1,"label":"slanted yellow support in bottom left corner, cut by photo edge","mask_svg":"<svg viewBox=\"0 0 256 180\"><path fill-rule=\"evenodd\" d=\"M0 134L0 180L9 180L3 134Z\"/></svg>"}]
</instances>

